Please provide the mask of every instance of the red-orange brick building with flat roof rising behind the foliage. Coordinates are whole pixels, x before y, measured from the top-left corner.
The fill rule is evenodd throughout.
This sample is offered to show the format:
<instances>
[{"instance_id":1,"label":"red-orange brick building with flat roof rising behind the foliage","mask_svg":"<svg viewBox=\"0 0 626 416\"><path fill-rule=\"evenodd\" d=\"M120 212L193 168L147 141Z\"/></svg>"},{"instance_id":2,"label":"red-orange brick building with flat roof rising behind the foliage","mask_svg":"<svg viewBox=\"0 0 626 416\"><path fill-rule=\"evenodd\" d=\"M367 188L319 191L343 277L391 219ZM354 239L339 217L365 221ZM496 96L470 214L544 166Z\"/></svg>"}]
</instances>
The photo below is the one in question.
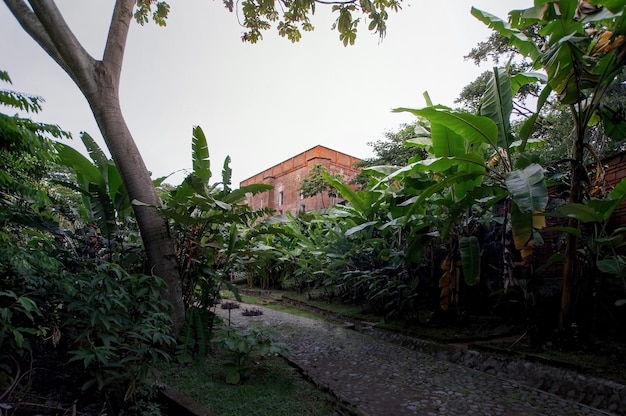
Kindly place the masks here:
<instances>
[{"instance_id":1,"label":"red-orange brick building with flat roof rising behind the foliage","mask_svg":"<svg viewBox=\"0 0 626 416\"><path fill-rule=\"evenodd\" d=\"M323 165L331 175L342 175L344 182L347 183L358 174L359 169L356 169L354 164L360 161L361 159L354 156L318 145L257 173L242 181L240 186L257 183L274 185L274 189L270 191L247 196L247 203L253 209L273 208L277 214L314 211L342 200L330 198L326 192L322 196L302 197L300 184L309 175L311 168Z\"/></svg>"}]
</instances>

